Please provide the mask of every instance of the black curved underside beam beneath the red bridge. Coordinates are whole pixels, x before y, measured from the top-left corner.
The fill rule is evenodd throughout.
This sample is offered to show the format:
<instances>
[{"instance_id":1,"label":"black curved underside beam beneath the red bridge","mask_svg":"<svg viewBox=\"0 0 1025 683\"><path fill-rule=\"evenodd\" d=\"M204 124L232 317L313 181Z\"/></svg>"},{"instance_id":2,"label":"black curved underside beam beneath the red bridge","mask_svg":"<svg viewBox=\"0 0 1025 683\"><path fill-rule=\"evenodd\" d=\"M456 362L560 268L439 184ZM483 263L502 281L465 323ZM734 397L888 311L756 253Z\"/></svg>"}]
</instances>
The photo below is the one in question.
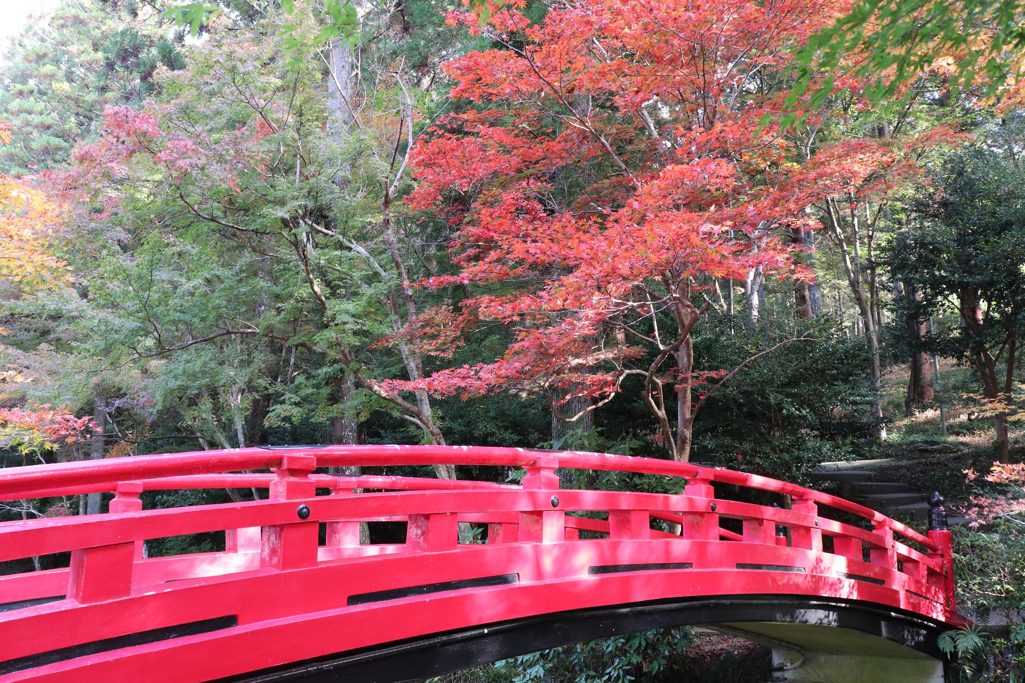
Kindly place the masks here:
<instances>
[{"instance_id":1,"label":"black curved underside beam beneath the red bridge","mask_svg":"<svg viewBox=\"0 0 1025 683\"><path fill-rule=\"evenodd\" d=\"M753 595L637 603L557 612L397 641L221 679L221 683L342 681L400 683L477 665L638 631L775 622L840 628L942 658L941 624L857 601Z\"/></svg>"}]
</instances>

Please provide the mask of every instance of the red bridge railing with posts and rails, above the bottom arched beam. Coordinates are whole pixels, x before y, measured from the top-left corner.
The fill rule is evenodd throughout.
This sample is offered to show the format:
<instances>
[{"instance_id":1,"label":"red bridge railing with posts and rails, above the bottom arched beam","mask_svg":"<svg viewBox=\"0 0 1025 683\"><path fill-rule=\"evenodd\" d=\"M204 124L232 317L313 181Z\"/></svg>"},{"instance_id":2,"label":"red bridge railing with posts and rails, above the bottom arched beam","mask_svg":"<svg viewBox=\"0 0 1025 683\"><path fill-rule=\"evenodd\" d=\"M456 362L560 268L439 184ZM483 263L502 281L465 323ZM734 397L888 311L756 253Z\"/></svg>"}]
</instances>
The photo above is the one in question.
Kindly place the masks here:
<instances>
[{"instance_id":1,"label":"red bridge railing with posts and rails, above the bottom arched beam","mask_svg":"<svg viewBox=\"0 0 1025 683\"><path fill-rule=\"evenodd\" d=\"M525 474L522 485L512 486L315 473L326 467L399 465L520 467ZM556 472L560 468L678 477L681 492L562 489ZM262 469L272 472L233 474ZM716 498L713 483L789 496L791 505L773 508ZM141 510L139 495L146 490L225 487L265 487L269 498ZM382 492L356 493L357 489ZM327 494L318 495L318 490ZM147 455L0 471L0 499L105 491L115 493L106 515L0 524L0 562L71 553L67 569L0 576L0 609L4 604L49 598L93 604L131 596L145 587L168 581L184 585L232 572L287 571L375 555L468 550L470 544L459 540L457 525L469 522L488 525L487 545L496 550L500 546L589 543L581 540L581 534L598 537L590 540L656 544L637 547L647 549L643 557L652 560L640 564L616 564L622 553L615 550L615 543L590 546L594 552L588 557L599 559L593 560L598 564L583 567L585 572L629 571L643 564L673 570L686 565L741 573L814 574L831 581L815 586L837 586L851 595L870 595L891 606L951 624L960 618L954 611L948 531L933 529L924 535L878 512L821 491L685 463L518 448L327 446ZM861 518L870 528L824 517L820 507ZM741 530L725 528L724 520L737 520ZM405 543L361 544L362 521L405 522ZM321 525L325 527L323 545ZM212 531L225 533L223 552L142 558L146 540ZM676 541L688 544L686 552ZM675 561L685 555L687 562ZM561 578L581 571L568 561L525 565L515 554L489 557L488 572L515 573L519 580L524 576ZM0 636L3 620L0 613Z\"/></svg>"}]
</instances>

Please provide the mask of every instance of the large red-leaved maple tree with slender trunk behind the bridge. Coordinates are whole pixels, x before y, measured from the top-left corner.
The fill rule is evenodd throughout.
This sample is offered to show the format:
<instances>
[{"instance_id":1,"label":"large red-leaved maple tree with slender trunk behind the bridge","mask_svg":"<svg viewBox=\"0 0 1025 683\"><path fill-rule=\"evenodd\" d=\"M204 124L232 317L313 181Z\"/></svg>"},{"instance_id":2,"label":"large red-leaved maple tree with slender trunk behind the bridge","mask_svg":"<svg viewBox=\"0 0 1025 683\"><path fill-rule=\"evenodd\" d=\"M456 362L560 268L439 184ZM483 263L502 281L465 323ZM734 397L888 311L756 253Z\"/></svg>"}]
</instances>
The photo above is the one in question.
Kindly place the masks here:
<instances>
[{"instance_id":1,"label":"large red-leaved maple tree with slender trunk behind the bridge","mask_svg":"<svg viewBox=\"0 0 1025 683\"><path fill-rule=\"evenodd\" d=\"M451 15L496 47L448 65L452 97L470 104L419 145L408 202L454 229L459 272L426 285L470 295L405 333L445 353L476 324L515 334L494 362L386 390L529 392L557 411L584 396L589 410L637 374L656 436L688 459L700 385L732 374L694 367L702 290L755 268L810 278L789 239L819 227L808 207L885 190L907 165L892 140L810 154L773 123L792 50L846 7L588 0L539 25L520 2L484 24Z\"/></svg>"}]
</instances>

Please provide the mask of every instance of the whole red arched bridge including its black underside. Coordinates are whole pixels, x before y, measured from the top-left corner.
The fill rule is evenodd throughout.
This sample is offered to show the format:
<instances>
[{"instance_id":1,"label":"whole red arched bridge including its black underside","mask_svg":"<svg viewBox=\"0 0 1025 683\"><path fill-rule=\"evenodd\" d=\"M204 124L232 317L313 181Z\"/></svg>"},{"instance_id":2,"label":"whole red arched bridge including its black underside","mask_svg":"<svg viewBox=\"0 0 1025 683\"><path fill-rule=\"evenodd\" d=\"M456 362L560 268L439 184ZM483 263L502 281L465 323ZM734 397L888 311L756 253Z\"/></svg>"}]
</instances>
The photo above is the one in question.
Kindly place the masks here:
<instances>
[{"instance_id":1,"label":"whole red arched bridge including its black underside","mask_svg":"<svg viewBox=\"0 0 1025 683\"><path fill-rule=\"evenodd\" d=\"M317 474L443 464L522 468L523 483ZM678 478L662 484L680 493L561 489L559 468ZM269 493L161 510L139 497L210 488ZM783 679L942 681L936 637L965 624L938 514L927 536L685 463L300 446L0 471L0 499L95 492L115 494L108 514L0 524L4 566L70 553L67 568L0 576L4 683L417 680L685 624L770 645ZM361 522L401 523L404 541L361 543ZM478 533L460 539L460 523ZM146 557L149 539L208 532L223 550Z\"/></svg>"}]
</instances>

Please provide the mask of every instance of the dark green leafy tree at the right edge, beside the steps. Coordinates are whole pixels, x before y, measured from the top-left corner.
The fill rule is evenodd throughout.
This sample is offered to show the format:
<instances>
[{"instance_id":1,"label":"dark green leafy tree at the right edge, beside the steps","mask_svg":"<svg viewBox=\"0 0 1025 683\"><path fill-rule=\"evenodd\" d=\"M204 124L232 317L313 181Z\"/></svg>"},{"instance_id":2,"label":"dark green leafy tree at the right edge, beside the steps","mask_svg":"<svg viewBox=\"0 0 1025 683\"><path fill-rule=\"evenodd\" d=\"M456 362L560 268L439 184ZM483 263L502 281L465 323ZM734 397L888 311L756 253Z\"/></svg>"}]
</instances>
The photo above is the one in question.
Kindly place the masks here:
<instances>
[{"instance_id":1,"label":"dark green leafy tree at the right edge, beside the steps","mask_svg":"<svg viewBox=\"0 0 1025 683\"><path fill-rule=\"evenodd\" d=\"M1020 125L1020 123L1018 124ZM999 135L952 154L933 187L908 202L908 224L885 252L893 277L920 302L910 313L949 314L920 350L971 363L993 416L995 445L1007 461L1007 421L1020 418L1023 388L1016 373L1025 325L1025 173L1017 147Z\"/></svg>"}]
</instances>

